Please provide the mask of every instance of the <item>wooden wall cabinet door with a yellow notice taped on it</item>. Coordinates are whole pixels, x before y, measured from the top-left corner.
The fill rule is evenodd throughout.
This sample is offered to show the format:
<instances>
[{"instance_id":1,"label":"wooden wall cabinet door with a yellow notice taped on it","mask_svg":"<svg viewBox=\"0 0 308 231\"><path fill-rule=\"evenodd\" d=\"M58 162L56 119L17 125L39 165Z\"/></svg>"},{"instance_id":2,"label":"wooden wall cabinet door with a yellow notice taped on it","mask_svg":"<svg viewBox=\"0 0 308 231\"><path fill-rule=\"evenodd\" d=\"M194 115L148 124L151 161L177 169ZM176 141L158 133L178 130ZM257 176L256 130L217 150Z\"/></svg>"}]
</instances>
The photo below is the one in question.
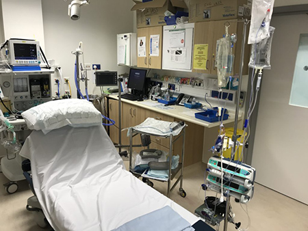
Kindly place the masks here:
<instances>
[{"instance_id":1,"label":"wooden wall cabinet door with a yellow notice taped on it","mask_svg":"<svg viewBox=\"0 0 308 231\"><path fill-rule=\"evenodd\" d=\"M206 73L206 74L210 74L211 73L211 53L212 53L212 49L213 49L213 23L211 22L201 22L201 23L195 23L194 24L194 47L198 44L207 44L207 60L205 61L205 68L204 69L200 69L200 67L198 67L198 65L194 65L194 57L195 57L195 53L194 53L194 57L192 60L192 68L193 68L193 72L197 72L197 73ZM194 49L193 47L193 49Z\"/></svg>"}]
</instances>

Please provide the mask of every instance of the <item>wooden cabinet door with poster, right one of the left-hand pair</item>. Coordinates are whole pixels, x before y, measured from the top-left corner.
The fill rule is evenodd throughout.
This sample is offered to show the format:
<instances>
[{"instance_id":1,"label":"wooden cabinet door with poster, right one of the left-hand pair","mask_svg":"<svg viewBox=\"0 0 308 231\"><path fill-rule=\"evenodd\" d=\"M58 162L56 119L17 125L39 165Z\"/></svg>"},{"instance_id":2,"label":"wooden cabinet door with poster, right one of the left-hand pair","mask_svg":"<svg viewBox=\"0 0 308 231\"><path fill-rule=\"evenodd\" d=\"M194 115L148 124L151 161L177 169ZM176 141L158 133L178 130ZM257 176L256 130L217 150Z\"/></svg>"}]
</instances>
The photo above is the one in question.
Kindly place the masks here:
<instances>
[{"instance_id":1,"label":"wooden cabinet door with poster, right one of the left-hand pair","mask_svg":"<svg viewBox=\"0 0 308 231\"><path fill-rule=\"evenodd\" d=\"M149 68L162 68L162 27L149 27L149 37L147 39L147 51ZM149 42L148 42L149 41ZM157 44L158 41L158 44ZM158 47L157 47L158 46Z\"/></svg>"}]
</instances>

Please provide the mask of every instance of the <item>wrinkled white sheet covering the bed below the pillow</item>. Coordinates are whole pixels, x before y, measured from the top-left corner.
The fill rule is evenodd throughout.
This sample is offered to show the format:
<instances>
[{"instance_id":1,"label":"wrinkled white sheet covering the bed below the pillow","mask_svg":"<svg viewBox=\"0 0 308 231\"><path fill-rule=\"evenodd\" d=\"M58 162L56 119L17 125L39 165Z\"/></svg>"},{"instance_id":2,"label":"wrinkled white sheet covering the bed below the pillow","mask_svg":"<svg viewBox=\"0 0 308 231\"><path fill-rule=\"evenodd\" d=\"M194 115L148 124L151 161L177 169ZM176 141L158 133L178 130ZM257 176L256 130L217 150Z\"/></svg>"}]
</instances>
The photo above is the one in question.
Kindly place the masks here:
<instances>
[{"instance_id":1,"label":"wrinkled white sheet covering the bed below the pillow","mask_svg":"<svg viewBox=\"0 0 308 231\"><path fill-rule=\"evenodd\" d=\"M166 205L198 221L127 172L103 126L33 131L21 155L31 160L34 190L55 230L113 230Z\"/></svg>"}]
</instances>

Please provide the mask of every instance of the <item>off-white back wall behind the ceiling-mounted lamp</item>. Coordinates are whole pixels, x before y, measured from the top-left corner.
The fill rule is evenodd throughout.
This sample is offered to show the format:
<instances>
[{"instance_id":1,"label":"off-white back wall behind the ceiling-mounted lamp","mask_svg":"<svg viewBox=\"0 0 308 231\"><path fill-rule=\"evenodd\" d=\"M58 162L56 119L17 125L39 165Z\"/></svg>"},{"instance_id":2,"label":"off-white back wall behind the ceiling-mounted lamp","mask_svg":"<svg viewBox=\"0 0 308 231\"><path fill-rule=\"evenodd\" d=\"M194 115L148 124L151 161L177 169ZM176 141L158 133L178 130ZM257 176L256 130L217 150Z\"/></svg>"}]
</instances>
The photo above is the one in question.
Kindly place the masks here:
<instances>
[{"instance_id":1,"label":"off-white back wall behind the ceiling-mounted lamp","mask_svg":"<svg viewBox=\"0 0 308 231\"><path fill-rule=\"evenodd\" d=\"M116 65L116 34L133 31L133 1L91 0L81 7L81 18L72 21L68 16L70 1L42 0L46 55L62 67L64 77L70 77L73 97L76 88L73 79L75 51L80 41L84 43L84 60L88 64L101 64L101 70L127 72L127 67ZM88 71L89 94L100 94L92 83L92 71ZM94 89L95 88L95 89ZM81 92L85 94L84 85Z\"/></svg>"}]
</instances>

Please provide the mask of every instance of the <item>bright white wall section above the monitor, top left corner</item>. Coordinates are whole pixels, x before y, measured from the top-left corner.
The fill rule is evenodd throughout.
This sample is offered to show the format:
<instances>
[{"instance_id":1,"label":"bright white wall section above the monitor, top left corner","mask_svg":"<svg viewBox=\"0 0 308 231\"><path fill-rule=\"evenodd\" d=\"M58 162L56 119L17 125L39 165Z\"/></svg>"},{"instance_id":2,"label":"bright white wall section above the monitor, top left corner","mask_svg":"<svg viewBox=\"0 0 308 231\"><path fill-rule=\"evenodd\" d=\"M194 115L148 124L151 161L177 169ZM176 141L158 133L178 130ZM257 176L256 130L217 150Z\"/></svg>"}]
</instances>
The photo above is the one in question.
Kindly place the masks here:
<instances>
[{"instance_id":1,"label":"bright white wall section above the monitor, top left corner","mask_svg":"<svg viewBox=\"0 0 308 231\"><path fill-rule=\"evenodd\" d=\"M2 10L5 40L35 39L44 50L41 0L2 0Z\"/></svg>"}]
</instances>

